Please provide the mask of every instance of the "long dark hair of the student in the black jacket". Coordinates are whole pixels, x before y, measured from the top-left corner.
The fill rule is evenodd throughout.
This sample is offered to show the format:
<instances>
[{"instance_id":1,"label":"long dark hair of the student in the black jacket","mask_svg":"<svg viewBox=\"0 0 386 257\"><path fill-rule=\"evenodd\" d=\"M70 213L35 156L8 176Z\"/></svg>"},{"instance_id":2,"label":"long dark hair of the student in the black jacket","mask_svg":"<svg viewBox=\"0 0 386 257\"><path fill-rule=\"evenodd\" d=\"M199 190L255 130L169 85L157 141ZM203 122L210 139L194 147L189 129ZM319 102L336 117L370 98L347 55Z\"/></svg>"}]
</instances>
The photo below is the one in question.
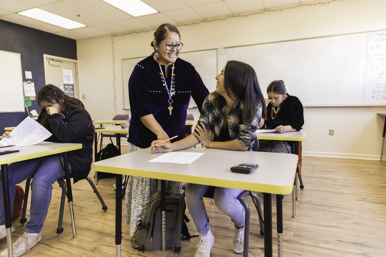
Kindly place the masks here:
<instances>
[{"instance_id":1,"label":"long dark hair of the student in the black jacket","mask_svg":"<svg viewBox=\"0 0 386 257\"><path fill-rule=\"evenodd\" d=\"M37 93L36 100L40 107L41 107L41 104L40 104L41 102L48 102L50 104L58 103L60 105L62 113L66 111L75 110L75 109L81 109L87 113L88 118L90 119L90 122L92 121L91 116L88 113L88 111L85 109L85 106L83 105L82 101L64 94L64 92L61 91L59 87L54 86L52 84L47 84L46 86L42 87ZM41 119L39 119L41 121L40 124L44 128L47 128L48 116L49 115L44 115L41 117Z\"/></svg>"}]
</instances>

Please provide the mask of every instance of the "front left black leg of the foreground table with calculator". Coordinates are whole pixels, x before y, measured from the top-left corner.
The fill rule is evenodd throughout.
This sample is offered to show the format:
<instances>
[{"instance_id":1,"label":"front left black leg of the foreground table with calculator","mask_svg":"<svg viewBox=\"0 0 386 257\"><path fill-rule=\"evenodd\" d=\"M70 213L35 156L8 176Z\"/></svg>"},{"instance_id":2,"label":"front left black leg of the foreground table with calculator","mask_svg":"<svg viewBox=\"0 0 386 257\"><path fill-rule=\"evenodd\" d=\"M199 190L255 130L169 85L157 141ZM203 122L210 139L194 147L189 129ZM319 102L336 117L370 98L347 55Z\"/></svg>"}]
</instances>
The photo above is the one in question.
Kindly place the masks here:
<instances>
[{"instance_id":1,"label":"front left black leg of the foreground table with calculator","mask_svg":"<svg viewBox=\"0 0 386 257\"><path fill-rule=\"evenodd\" d=\"M115 183L122 185L122 175L117 174ZM115 256L120 257L122 244L122 186L115 191Z\"/></svg>"}]
</instances>

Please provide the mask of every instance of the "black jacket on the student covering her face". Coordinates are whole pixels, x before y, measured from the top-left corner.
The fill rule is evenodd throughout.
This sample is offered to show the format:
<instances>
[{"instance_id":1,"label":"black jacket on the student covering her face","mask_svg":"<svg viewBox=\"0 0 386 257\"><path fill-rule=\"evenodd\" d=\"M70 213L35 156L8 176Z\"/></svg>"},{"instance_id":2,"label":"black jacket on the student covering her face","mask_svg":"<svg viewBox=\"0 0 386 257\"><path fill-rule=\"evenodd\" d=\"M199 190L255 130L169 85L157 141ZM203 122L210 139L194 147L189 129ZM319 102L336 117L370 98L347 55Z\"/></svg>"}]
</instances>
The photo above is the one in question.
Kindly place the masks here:
<instances>
[{"instance_id":1,"label":"black jacket on the student covering her face","mask_svg":"<svg viewBox=\"0 0 386 257\"><path fill-rule=\"evenodd\" d=\"M37 122L41 117L47 115L46 109L42 109ZM55 113L48 117L47 130L52 136L45 141L54 143L77 143L82 148L67 153L68 162L71 165L74 183L85 179L90 173L93 161L93 124L85 111L81 109L71 110L64 113Z\"/></svg>"}]
</instances>

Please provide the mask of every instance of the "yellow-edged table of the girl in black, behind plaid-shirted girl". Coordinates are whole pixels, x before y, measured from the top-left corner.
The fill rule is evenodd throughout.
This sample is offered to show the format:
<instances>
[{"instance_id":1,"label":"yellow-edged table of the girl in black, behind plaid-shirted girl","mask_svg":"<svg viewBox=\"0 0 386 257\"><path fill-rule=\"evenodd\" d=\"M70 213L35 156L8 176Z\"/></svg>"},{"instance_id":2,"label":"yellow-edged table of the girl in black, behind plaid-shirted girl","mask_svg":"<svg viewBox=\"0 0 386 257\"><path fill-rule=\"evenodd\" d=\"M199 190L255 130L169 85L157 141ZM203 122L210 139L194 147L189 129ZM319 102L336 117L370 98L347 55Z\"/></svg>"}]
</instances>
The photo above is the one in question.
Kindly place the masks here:
<instances>
[{"instance_id":1,"label":"yellow-edged table of the girl in black, behind plaid-shirted girl","mask_svg":"<svg viewBox=\"0 0 386 257\"><path fill-rule=\"evenodd\" d=\"M291 153L297 155L298 154L298 141L306 140L307 131L305 129L301 129L300 131L292 131L286 133L256 133L257 139L259 140L284 140L289 141L289 145L291 146ZM298 163L298 165L300 165ZM296 177L293 185L292 191L292 217L296 218L296 203L295 200L299 200L298 194L298 179L299 179L299 166L296 168ZM300 178L301 179L301 178ZM301 183L303 184L303 183ZM303 189L303 188L302 188Z\"/></svg>"}]
</instances>

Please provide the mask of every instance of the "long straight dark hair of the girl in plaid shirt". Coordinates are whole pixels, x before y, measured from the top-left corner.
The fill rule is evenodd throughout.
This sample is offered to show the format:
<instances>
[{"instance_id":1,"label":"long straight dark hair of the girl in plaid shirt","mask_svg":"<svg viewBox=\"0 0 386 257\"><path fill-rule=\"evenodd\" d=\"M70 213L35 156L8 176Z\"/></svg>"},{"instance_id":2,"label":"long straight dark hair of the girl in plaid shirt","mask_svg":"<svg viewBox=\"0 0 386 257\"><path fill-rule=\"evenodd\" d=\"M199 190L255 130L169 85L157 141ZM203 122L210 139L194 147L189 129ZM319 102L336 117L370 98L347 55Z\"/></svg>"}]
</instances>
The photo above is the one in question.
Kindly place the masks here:
<instances>
[{"instance_id":1,"label":"long straight dark hair of the girl in plaid shirt","mask_svg":"<svg viewBox=\"0 0 386 257\"><path fill-rule=\"evenodd\" d=\"M264 96L259 81L257 81L256 72L252 66L245 62L230 60L227 62L227 65L225 65L224 80L224 89L227 91L228 96L232 98L231 95L234 95L239 97L240 100L244 100L244 121L253 121L256 103L262 106L262 118L267 118ZM215 93L213 104L219 106L220 103L225 104L225 98Z\"/></svg>"}]
</instances>

